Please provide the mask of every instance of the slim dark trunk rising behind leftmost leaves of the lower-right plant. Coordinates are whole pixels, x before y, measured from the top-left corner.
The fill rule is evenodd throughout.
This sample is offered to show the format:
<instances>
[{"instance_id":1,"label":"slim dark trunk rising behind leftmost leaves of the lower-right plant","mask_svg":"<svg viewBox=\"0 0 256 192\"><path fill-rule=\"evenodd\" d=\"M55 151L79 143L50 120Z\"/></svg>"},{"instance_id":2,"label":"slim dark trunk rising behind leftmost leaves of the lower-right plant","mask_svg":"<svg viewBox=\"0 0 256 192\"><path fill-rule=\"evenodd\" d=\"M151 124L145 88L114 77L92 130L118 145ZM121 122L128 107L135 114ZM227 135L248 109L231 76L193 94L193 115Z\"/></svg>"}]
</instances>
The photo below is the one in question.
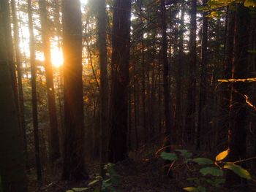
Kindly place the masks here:
<instances>
[{"instance_id":1,"label":"slim dark trunk rising behind leftmost leaves of the lower-right plant","mask_svg":"<svg viewBox=\"0 0 256 192\"><path fill-rule=\"evenodd\" d=\"M162 64L163 64L163 83L164 83L164 102L165 102L165 151L170 153L170 143L171 143L171 115L170 115L170 90L169 90L169 66L167 60L167 26L166 26L166 8L165 0L161 0L161 21L162 21ZM170 161L166 162L166 166L170 164ZM171 172L169 167L166 167L165 172L167 176L171 177Z\"/></svg>"}]
</instances>

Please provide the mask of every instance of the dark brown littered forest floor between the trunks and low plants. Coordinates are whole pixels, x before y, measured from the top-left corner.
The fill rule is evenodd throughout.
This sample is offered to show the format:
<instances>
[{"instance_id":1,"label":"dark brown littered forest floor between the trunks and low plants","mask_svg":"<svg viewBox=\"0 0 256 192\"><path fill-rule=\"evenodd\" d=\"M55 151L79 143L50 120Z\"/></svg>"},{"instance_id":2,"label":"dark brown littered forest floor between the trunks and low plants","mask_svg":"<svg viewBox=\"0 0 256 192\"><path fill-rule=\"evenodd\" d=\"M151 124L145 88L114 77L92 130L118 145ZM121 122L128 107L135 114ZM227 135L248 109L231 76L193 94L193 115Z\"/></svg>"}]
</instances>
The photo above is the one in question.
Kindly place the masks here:
<instances>
[{"instance_id":1,"label":"dark brown littered forest floor between the trunks and low plants","mask_svg":"<svg viewBox=\"0 0 256 192\"><path fill-rule=\"evenodd\" d=\"M116 187L121 192L180 192L183 188L191 187L195 183L188 181L189 177L200 177L198 166L196 164L184 164L176 162L173 165L173 178L166 177L164 172L165 161L159 157L157 151L160 145L151 145L140 147L140 150L129 153L129 160L118 163L114 169L120 176L119 184ZM211 157L206 153L198 153L197 157ZM59 180L60 174L53 176L45 176L45 181L41 185L36 182L30 183L30 191L42 192L66 192L72 188L85 188L97 176L99 172L99 164L94 161L94 164L87 164L89 167L88 181L67 182ZM61 172L61 171L60 171ZM251 172L255 174L255 172ZM211 177L208 177L211 179ZM255 181L255 180L254 180ZM206 186L207 192L226 192L227 188L211 188L210 185L203 183ZM89 191L93 191L93 188ZM250 182L249 188L238 188L233 192L249 192L256 191L256 183Z\"/></svg>"}]
</instances>

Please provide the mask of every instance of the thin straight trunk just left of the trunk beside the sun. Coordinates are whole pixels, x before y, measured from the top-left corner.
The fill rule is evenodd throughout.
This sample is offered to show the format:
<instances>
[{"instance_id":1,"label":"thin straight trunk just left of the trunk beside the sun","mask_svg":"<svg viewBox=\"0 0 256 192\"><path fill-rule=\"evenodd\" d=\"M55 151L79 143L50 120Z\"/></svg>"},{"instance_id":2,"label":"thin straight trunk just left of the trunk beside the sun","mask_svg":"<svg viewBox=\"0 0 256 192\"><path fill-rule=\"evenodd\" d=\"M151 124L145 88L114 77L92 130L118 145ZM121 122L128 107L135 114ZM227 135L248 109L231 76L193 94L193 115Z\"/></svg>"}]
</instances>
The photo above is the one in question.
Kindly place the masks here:
<instances>
[{"instance_id":1,"label":"thin straight trunk just left of the trunk beside the sun","mask_svg":"<svg viewBox=\"0 0 256 192\"><path fill-rule=\"evenodd\" d=\"M36 55L34 43L34 30L32 20L31 0L28 0L28 16L29 16L29 47L30 47L30 65L31 65L31 86L32 86L32 112L34 127L34 150L37 164L37 180L42 180L42 167L39 152L39 133L38 133L38 117L37 117L37 74L36 74Z\"/></svg>"}]
</instances>

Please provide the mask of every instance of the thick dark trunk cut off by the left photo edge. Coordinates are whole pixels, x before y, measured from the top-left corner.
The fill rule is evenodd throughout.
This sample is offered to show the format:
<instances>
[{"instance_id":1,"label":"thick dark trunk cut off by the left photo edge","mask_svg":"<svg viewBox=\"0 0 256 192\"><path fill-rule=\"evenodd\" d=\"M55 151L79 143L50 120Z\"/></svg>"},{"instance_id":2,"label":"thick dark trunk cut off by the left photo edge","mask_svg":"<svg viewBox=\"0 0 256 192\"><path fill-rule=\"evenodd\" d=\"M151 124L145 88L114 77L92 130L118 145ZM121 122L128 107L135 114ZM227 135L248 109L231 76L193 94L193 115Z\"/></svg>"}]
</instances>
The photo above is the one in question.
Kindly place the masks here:
<instances>
[{"instance_id":1,"label":"thick dark trunk cut off by the left photo edge","mask_svg":"<svg viewBox=\"0 0 256 192\"><path fill-rule=\"evenodd\" d=\"M10 59L7 53L6 29L10 15L6 12L8 1L0 1L0 172L1 185L5 192L26 192L26 173L23 156L22 134L18 122L10 74ZM7 26L8 25L8 26ZM7 39L10 41L11 39Z\"/></svg>"}]
</instances>

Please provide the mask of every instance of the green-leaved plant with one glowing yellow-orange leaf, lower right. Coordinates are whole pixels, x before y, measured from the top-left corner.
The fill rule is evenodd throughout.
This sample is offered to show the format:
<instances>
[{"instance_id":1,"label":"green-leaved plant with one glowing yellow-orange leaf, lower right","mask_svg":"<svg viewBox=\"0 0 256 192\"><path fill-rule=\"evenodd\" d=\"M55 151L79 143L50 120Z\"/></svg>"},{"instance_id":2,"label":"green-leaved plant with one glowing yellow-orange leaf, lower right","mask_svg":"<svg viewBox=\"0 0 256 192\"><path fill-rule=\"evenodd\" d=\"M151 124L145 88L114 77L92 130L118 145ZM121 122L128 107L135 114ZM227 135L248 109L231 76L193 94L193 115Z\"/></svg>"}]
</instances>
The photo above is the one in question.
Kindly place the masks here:
<instances>
[{"instance_id":1,"label":"green-leaved plant with one glowing yellow-orange leaf, lower right","mask_svg":"<svg viewBox=\"0 0 256 192\"><path fill-rule=\"evenodd\" d=\"M187 178L188 181L195 183L195 186L184 188L185 191L206 192L206 185L211 185L211 187L214 188L220 187L223 183L225 183L223 169L229 169L230 171L238 174L238 176L247 180L252 179L251 175L246 169L237 165L241 161L223 161L230 152L229 149L219 153L216 156L215 161L209 158L191 158L192 153L189 153L187 150L176 150L175 153L162 152L160 156L165 160L176 161L178 160L178 155L176 154L177 152L180 153L179 156L185 164L196 163L200 165L198 172L200 172L200 174L203 176Z\"/></svg>"}]
</instances>

